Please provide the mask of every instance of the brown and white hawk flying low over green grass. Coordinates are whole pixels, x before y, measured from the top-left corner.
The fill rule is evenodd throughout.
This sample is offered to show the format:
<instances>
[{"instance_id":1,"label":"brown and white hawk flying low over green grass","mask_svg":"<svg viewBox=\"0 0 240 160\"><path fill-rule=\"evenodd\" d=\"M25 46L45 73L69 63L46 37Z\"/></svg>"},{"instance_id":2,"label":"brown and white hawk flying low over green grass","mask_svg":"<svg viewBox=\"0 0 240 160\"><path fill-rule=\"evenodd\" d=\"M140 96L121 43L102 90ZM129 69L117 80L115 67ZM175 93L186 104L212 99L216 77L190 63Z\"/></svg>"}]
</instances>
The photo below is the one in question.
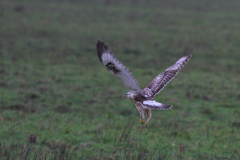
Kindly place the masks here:
<instances>
[{"instance_id":1,"label":"brown and white hawk flying low over green grass","mask_svg":"<svg viewBox=\"0 0 240 160\"><path fill-rule=\"evenodd\" d=\"M128 89L129 92L127 92L124 97L135 102L136 108L140 113L141 124L143 124L144 112L146 114L145 124L147 126L148 121L152 116L151 109L167 110L172 107L172 105L156 102L153 98L177 75L179 70L191 58L192 49L186 49L184 51L185 56L159 74L152 82L141 90L130 71L117 58L115 58L112 51L104 44L104 42L98 41L96 46L99 60L107 67L111 74L117 76Z\"/></svg>"}]
</instances>

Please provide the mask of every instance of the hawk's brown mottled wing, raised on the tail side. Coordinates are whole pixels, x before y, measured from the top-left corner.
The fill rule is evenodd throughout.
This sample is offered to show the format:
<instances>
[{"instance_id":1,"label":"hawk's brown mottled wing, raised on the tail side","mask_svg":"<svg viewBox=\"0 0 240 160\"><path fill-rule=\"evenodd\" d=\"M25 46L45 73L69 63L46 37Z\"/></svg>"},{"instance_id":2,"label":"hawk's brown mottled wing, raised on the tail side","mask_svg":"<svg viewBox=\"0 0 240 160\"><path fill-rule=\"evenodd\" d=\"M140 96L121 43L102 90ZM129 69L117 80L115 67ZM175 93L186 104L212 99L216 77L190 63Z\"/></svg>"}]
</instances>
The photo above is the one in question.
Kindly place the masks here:
<instances>
[{"instance_id":1,"label":"hawk's brown mottled wing, raised on the tail side","mask_svg":"<svg viewBox=\"0 0 240 160\"><path fill-rule=\"evenodd\" d=\"M191 58L192 49L186 49L184 53L186 56L180 58L175 64L167 68L163 73L159 74L152 82L150 82L143 92L149 98L153 98L158 94L180 71L180 69L187 63Z\"/></svg>"}]
</instances>

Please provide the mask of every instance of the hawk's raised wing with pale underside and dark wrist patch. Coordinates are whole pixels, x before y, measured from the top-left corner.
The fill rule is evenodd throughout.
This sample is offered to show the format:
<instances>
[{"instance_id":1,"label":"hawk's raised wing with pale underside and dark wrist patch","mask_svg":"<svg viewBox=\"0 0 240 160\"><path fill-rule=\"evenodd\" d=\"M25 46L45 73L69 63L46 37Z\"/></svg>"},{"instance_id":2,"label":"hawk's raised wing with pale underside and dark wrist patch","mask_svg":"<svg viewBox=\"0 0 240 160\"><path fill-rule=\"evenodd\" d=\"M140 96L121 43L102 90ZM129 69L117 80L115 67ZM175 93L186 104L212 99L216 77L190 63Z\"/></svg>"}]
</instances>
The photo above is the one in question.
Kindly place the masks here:
<instances>
[{"instance_id":1,"label":"hawk's raised wing with pale underside and dark wrist patch","mask_svg":"<svg viewBox=\"0 0 240 160\"><path fill-rule=\"evenodd\" d=\"M111 50L108 49L108 46L103 42L97 42L97 53L98 58L104 66L115 76L117 76L123 84L127 87L129 91L141 92L141 89L131 75L129 70L112 54Z\"/></svg>"}]
</instances>

